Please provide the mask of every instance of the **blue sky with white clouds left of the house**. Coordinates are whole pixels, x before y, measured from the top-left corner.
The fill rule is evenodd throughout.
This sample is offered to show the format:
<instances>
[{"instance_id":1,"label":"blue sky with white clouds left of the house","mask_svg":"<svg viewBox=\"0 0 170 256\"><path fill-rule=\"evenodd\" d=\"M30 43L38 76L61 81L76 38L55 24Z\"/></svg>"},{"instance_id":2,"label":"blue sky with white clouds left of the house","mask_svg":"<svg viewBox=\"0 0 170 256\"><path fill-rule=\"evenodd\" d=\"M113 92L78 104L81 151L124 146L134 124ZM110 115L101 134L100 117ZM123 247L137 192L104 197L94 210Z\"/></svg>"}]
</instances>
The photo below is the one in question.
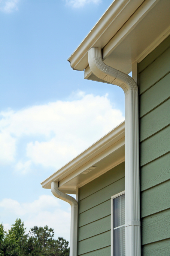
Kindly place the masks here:
<instances>
[{"instance_id":1,"label":"blue sky with white clouds left of the house","mask_svg":"<svg viewBox=\"0 0 170 256\"><path fill-rule=\"evenodd\" d=\"M124 120L124 92L68 57L111 0L0 0L0 221L70 239L70 205L41 182Z\"/></svg>"}]
</instances>

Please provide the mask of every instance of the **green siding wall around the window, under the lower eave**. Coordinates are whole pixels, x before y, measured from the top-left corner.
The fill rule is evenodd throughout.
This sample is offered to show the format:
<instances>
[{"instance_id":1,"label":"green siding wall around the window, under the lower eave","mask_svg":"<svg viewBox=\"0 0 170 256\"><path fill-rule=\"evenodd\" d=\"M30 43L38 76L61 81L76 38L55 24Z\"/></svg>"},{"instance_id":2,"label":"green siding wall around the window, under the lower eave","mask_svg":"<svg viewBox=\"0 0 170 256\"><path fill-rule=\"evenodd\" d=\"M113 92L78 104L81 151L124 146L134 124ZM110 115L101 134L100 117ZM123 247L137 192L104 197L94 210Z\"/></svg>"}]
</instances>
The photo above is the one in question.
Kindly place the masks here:
<instances>
[{"instance_id":1,"label":"green siding wall around the window, under the lower eave","mask_svg":"<svg viewBox=\"0 0 170 256\"><path fill-rule=\"evenodd\" d=\"M111 255L111 196L125 190L124 162L79 188L78 255Z\"/></svg>"}]
</instances>

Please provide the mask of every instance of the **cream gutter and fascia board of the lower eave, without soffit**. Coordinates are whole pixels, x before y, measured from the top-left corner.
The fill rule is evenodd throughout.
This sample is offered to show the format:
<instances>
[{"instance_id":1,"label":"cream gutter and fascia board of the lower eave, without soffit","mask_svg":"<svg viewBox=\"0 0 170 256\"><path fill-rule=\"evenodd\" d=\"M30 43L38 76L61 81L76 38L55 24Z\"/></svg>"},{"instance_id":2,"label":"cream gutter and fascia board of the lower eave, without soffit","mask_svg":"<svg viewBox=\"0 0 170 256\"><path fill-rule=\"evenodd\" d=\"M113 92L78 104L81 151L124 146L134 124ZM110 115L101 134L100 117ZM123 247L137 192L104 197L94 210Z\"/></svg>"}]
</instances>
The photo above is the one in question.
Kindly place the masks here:
<instances>
[{"instance_id":1,"label":"cream gutter and fascia board of the lower eave, without soffit","mask_svg":"<svg viewBox=\"0 0 170 256\"><path fill-rule=\"evenodd\" d=\"M62 168L60 168L58 171L50 175L50 177L48 177L46 180L41 182L42 187L50 189L52 181L59 181L60 189L60 185L63 183L62 181L66 179L66 182L68 182L69 180L73 179L74 177L78 176L80 173L91 167L96 162L101 161L102 158L112 152L112 147L114 147L114 145L116 145L115 150L122 147L122 145L124 145L124 129L125 124L123 121L101 139L96 141L93 145L85 149L74 159L72 159ZM85 177L86 176L84 176L84 178ZM77 186L79 187L79 184L77 184ZM68 188L67 190L69 191L70 188ZM72 194L71 191L67 193Z\"/></svg>"}]
</instances>

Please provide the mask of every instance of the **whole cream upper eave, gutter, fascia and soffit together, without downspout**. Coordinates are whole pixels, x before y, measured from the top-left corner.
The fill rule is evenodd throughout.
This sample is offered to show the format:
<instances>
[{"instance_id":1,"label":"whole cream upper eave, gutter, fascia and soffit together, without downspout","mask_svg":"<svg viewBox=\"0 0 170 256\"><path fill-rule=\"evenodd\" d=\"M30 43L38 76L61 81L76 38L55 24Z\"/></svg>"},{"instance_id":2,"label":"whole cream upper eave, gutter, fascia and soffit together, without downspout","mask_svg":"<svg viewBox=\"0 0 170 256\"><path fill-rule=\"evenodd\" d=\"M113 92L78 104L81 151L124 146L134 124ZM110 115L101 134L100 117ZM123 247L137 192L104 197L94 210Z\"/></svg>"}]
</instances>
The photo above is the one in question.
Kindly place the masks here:
<instances>
[{"instance_id":1,"label":"whole cream upper eave, gutter, fascia and soffit together, without downspout","mask_svg":"<svg viewBox=\"0 0 170 256\"><path fill-rule=\"evenodd\" d=\"M115 0L68 58L85 79L99 81L90 71L87 53L102 49L108 66L126 74L170 34L169 0ZM101 81L99 81L101 82Z\"/></svg>"}]
</instances>

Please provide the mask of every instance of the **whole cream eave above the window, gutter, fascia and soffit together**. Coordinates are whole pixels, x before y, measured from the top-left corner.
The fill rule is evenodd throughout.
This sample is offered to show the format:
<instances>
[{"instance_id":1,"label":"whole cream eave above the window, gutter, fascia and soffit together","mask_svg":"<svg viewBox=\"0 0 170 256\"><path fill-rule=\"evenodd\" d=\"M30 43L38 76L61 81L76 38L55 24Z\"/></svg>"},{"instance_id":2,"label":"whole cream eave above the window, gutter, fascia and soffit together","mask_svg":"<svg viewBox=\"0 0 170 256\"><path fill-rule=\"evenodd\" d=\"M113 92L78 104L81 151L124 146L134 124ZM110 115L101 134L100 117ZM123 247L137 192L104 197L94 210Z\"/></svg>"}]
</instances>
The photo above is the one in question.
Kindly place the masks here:
<instances>
[{"instance_id":1,"label":"whole cream eave above the window, gutter, fascia and soffit together","mask_svg":"<svg viewBox=\"0 0 170 256\"><path fill-rule=\"evenodd\" d=\"M59 181L59 189L68 194L76 194L82 187L116 165L124 162L124 122L53 173L41 183L43 188L51 188L52 181Z\"/></svg>"}]
</instances>

